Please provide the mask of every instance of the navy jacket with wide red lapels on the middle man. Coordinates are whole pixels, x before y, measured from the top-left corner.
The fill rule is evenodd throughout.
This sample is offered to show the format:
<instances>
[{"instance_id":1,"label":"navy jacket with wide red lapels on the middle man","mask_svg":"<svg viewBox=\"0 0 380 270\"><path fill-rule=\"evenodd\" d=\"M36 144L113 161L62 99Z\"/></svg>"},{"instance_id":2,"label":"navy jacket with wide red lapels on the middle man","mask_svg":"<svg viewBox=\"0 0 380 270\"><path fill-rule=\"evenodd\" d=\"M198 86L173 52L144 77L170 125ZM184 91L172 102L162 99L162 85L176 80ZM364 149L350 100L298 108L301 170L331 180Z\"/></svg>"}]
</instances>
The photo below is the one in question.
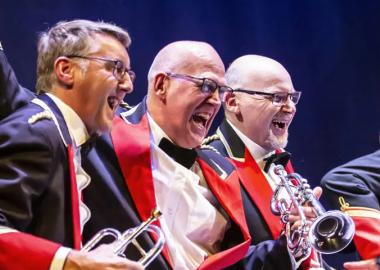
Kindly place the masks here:
<instances>
[{"instance_id":1,"label":"navy jacket with wide red lapels on the middle man","mask_svg":"<svg viewBox=\"0 0 380 270\"><path fill-rule=\"evenodd\" d=\"M105 220L109 226L120 230L137 226L155 207L145 100L128 112L127 116L124 113L121 115L124 118L115 117L111 134L102 136L96 142L83 164L85 170L91 172L92 178L90 187L84 191L84 199L90 209L96 209L85 228L85 238L101 229ZM199 155L202 156L202 153ZM198 163L210 190L229 214L232 226L222 243L224 251L207 258L200 268L222 269L244 258L250 238L239 198L236 172L231 165L225 168L231 183L236 183L235 186L227 187L219 182L218 174L205 162L207 159L203 155L198 158ZM149 237L143 239L144 245L151 246L151 242ZM127 253L128 256L136 256L133 251ZM239 267L235 265L233 269ZM164 250L153 262L152 269L170 268Z\"/></svg>"}]
</instances>

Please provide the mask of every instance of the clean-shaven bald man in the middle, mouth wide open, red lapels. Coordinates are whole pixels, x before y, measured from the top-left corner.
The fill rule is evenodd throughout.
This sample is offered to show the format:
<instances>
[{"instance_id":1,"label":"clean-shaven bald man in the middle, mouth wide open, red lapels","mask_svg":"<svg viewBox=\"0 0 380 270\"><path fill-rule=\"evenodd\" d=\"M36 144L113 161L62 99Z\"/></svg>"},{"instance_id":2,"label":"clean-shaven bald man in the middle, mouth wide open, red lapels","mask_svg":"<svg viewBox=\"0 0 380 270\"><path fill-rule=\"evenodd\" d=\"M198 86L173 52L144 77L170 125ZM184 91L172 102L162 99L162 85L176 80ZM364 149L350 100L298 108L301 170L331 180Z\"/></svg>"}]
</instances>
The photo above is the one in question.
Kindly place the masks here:
<instances>
[{"instance_id":1,"label":"clean-shaven bald man in the middle, mouth wide open, red lapels","mask_svg":"<svg viewBox=\"0 0 380 270\"><path fill-rule=\"evenodd\" d=\"M230 90L224 75L207 43L174 42L157 54L146 98L119 113L84 162L94 182L84 199L100 209L87 236L105 221L136 226L157 207L166 248L153 269L243 268L236 263L250 238L237 174L231 164L215 169L214 157L196 151L221 106L219 92Z\"/></svg>"}]
</instances>

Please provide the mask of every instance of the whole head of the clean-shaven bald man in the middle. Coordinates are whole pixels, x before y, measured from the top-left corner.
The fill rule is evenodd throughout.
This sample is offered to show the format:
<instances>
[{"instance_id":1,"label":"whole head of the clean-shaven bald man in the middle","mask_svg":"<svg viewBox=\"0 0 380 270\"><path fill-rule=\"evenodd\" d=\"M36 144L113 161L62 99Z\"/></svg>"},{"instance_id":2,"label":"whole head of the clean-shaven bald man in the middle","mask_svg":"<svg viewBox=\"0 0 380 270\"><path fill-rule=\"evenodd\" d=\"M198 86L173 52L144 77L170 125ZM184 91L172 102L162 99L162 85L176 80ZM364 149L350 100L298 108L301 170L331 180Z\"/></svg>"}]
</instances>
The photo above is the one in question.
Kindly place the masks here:
<instances>
[{"instance_id":1,"label":"whole head of the clean-shaven bald man in the middle","mask_svg":"<svg viewBox=\"0 0 380 270\"><path fill-rule=\"evenodd\" d=\"M209 44L178 41L167 45L148 74L150 116L177 145L199 146L220 108L218 91L203 91L203 83L208 79L225 85L224 76L224 64Z\"/></svg>"}]
</instances>

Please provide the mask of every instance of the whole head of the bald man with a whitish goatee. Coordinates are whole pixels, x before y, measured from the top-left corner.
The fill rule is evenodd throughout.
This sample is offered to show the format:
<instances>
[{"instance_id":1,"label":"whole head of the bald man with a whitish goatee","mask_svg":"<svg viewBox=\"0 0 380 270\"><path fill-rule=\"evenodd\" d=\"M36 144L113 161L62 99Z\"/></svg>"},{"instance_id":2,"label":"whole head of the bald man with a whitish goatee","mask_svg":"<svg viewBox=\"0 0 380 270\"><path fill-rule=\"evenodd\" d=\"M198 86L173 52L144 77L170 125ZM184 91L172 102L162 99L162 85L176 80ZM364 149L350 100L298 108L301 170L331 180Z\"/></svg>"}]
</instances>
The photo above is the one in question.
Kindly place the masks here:
<instances>
[{"instance_id":1,"label":"whole head of the bald man with a whitish goatee","mask_svg":"<svg viewBox=\"0 0 380 270\"><path fill-rule=\"evenodd\" d=\"M267 151L285 147L288 127L296 112L295 103L289 98L295 90L286 69L268 57L245 55L230 65L226 80L233 89L240 89L225 97L226 118ZM274 104L270 96L274 93L285 95L285 103Z\"/></svg>"}]
</instances>

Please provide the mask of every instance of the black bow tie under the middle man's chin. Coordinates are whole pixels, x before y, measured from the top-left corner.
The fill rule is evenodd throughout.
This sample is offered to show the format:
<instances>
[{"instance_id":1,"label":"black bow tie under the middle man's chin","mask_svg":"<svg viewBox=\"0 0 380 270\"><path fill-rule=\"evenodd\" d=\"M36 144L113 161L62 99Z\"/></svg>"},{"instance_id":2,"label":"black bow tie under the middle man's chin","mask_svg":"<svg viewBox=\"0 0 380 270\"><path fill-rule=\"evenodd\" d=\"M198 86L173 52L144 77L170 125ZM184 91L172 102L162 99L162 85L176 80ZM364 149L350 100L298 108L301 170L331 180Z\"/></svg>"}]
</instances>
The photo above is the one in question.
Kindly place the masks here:
<instances>
[{"instance_id":1,"label":"black bow tie under the middle man's chin","mask_svg":"<svg viewBox=\"0 0 380 270\"><path fill-rule=\"evenodd\" d=\"M194 149L182 148L175 145L167 138L162 138L158 146L176 162L188 169L193 166L195 159L197 158L197 152Z\"/></svg>"}]
</instances>

